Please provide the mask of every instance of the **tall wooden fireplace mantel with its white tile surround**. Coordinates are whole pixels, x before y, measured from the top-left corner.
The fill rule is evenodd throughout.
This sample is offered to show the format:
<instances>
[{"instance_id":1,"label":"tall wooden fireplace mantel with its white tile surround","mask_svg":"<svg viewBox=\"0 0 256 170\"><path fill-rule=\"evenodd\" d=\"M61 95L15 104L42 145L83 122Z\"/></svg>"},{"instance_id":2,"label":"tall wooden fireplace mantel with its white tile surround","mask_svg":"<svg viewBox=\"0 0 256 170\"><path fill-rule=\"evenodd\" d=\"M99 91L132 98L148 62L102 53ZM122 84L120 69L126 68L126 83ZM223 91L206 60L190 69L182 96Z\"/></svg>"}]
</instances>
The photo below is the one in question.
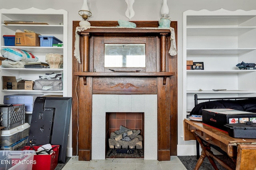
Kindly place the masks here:
<instances>
[{"instance_id":1,"label":"tall wooden fireplace mantel with its white tile surround","mask_svg":"<svg viewBox=\"0 0 256 170\"><path fill-rule=\"evenodd\" d=\"M73 155L105 159L106 113L126 112L144 113L144 159L170 160L177 155L177 55L168 51L176 47L177 22L170 29L158 28L157 21L136 22L136 29L96 21L77 29L78 23L73 22L74 51L80 45L73 59ZM105 44L129 43L145 48L146 66L104 65Z\"/></svg>"}]
</instances>

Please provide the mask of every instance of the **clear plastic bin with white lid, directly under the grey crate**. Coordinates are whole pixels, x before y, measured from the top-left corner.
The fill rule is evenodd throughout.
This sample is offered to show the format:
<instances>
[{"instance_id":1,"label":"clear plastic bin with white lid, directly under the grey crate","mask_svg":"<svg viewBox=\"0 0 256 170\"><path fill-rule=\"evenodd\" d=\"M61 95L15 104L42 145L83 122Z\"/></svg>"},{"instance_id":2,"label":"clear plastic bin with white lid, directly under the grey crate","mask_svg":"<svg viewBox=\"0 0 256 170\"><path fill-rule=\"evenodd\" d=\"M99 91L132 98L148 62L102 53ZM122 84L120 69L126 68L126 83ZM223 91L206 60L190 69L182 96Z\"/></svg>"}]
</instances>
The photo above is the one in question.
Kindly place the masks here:
<instances>
[{"instance_id":1,"label":"clear plastic bin with white lid, directly under the grey crate","mask_svg":"<svg viewBox=\"0 0 256 170\"><path fill-rule=\"evenodd\" d=\"M0 131L0 146L10 146L15 142L25 138L29 134L28 123L24 123L18 127L11 128L9 130Z\"/></svg>"}]
</instances>

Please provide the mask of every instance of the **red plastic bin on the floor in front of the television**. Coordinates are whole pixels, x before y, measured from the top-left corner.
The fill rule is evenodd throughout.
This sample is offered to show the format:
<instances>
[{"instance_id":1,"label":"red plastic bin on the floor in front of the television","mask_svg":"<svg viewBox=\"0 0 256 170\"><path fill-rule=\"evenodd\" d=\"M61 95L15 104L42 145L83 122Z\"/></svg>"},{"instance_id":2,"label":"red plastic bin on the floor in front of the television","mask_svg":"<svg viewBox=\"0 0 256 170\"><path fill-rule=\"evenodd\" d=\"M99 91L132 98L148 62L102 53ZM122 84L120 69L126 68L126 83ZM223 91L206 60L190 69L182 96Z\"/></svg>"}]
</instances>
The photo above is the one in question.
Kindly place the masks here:
<instances>
[{"instance_id":1,"label":"red plastic bin on the floor in front of the television","mask_svg":"<svg viewBox=\"0 0 256 170\"><path fill-rule=\"evenodd\" d=\"M56 147L55 147L56 146ZM23 150L35 150L40 146L24 146ZM60 145L52 145L52 154L35 154L32 170L54 170L58 164Z\"/></svg>"}]
</instances>

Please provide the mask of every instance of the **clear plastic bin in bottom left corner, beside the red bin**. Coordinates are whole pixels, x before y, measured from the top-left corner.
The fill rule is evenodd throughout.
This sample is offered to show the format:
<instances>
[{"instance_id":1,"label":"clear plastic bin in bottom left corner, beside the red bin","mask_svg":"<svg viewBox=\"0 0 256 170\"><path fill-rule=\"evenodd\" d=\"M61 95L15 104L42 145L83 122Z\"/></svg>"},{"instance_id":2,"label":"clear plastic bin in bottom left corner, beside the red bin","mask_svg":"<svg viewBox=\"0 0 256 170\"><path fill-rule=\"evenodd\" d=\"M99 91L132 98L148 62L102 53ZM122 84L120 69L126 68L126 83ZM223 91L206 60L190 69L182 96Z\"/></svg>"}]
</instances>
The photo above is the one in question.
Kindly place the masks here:
<instances>
[{"instance_id":1,"label":"clear plastic bin in bottom left corner, beside the red bin","mask_svg":"<svg viewBox=\"0 0 256 170\"><path fill-rule=\"evenodd\" d=\"M32 170L34 150L0 150L1 170Z\"/></svg>"}]
</instances>

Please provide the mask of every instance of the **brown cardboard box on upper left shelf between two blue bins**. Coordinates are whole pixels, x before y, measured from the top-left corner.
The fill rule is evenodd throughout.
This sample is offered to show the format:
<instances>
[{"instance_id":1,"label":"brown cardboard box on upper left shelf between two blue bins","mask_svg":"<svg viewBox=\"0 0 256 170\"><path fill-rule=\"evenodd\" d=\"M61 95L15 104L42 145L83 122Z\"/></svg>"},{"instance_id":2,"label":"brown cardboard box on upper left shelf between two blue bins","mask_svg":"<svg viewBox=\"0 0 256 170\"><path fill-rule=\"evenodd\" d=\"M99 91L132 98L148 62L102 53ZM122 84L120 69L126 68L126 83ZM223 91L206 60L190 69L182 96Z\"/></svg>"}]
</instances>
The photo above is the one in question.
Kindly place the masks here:
<instances>
[{"instance_id":1,"label":"brown cardboard box on upper left shelf between two blue bins","mask_svg":"<svg viewBox=\"0 0 256 170\"><path fill-rule=\"evenodd\" d=\"M40 34L32 32L16 32L15 45L16 46L40 46Z\"/></svg>"}]
</instances>

